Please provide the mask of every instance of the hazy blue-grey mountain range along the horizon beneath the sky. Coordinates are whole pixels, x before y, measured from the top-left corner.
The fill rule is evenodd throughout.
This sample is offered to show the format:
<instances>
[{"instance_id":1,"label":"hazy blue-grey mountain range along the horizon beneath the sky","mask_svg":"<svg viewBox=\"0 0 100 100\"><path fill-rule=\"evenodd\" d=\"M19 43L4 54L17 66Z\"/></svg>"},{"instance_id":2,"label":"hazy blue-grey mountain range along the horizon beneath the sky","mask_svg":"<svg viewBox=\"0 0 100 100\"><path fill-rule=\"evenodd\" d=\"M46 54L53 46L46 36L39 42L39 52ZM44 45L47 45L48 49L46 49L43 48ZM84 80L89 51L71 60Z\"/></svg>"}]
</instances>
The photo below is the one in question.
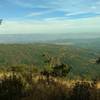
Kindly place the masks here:
<instances>
[{"instance_id":1,"label":"hazy blue-grey mountain range along the horizon beneath the sky","mask_svg":"<svg viewBox=\"0 0 100 100\"><path fill-rule=\"evenodd\" d=\"M33 42L54 42L54 43L87 43L99 42L100 35L80 34L0 34L0 43L33 43Z\"/></svg>"}]
</instances>

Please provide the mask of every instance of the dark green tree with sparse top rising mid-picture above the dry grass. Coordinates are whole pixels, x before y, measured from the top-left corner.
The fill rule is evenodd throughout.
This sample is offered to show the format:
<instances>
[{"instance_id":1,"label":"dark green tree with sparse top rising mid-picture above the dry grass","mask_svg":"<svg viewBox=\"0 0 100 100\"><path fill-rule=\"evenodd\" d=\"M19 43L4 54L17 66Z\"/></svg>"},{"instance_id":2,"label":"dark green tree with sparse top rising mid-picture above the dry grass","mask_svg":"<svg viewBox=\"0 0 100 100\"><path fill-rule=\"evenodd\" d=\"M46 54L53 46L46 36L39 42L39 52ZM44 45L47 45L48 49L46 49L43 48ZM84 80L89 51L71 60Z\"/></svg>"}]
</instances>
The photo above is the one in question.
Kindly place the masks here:
<instances>
[{"instance_id":1,"label":"dark green tree with sparse top rising mid-picture above the dry grass","mask_svg":"<svg viewBox=\"0 0 100 100\"><path fill-rule=\"evenodd\" d=\"M50 82L50 76L66 77L72 69L71 66L62 63L57 57L50 57L48 54L43 54L42 56L46 58L45 63L47 66L43 71L41 71L41 75L46 77L48 84Z\"/></svg>"}]
</instances>

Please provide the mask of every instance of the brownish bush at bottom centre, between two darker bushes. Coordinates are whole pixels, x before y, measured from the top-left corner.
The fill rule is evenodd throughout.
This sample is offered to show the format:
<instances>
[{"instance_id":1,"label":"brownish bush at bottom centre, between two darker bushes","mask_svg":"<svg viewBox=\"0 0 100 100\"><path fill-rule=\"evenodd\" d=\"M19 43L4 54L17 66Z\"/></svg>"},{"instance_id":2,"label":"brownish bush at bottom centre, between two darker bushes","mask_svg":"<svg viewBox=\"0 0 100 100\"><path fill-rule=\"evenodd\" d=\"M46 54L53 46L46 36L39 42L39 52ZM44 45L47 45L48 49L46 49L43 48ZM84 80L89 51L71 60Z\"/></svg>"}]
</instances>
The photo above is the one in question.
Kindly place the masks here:
<instances>
[{"instance_id":1,"label":"brownish bush at bottom centre, between two darker bushes","mask_svg":"<svg viewBox=\"0 0 100 100\"><path fill-rule=\"evenodd\" d=\"M49 84L46 84L46 82L37 82L33 85L32 89L31 96L26 100L68 100L66 86L58 82Z\"/></svg>"}]
</instances>

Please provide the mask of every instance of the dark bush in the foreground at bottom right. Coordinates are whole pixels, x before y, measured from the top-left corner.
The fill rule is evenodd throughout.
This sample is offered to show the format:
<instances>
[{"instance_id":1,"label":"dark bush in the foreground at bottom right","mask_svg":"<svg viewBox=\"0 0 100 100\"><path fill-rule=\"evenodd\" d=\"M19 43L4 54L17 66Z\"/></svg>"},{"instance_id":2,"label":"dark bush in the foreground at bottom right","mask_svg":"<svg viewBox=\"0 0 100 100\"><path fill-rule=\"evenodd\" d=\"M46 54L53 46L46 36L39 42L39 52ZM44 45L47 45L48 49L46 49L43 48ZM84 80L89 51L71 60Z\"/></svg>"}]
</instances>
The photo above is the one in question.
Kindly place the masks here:
<instances>
[{"instance_id":1,"label":"dark bush in the foreground at bottom right","mask_svg":"<svg viewBox=\"0 0 100 100\"><path fill-rule=\"evenodd\" d=\"M91 86L87 82L77 82L73 88L71 100L90 100Z\"/></svg>"}]
</instances>

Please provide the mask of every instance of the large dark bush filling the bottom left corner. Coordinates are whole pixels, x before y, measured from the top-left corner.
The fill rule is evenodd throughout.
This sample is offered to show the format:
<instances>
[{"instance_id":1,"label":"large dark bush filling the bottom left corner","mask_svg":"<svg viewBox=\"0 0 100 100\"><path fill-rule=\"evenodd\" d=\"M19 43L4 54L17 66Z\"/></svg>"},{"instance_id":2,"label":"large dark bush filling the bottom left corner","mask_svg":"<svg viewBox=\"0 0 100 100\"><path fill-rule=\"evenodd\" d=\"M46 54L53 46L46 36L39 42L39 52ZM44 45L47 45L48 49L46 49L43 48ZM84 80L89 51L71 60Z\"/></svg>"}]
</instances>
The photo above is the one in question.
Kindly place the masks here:
<instances>
[{"instance_id":1,"label":"large dark bush filling the bottom left corner","mask_svg":"<svg viewBox=\"0 0 100 100\"><path fill-rule=\"evenodd\" d=\"M5 76L0 82L0 100L21 100L24 88L18 75Z\"/></svg>"}]
</instances>

